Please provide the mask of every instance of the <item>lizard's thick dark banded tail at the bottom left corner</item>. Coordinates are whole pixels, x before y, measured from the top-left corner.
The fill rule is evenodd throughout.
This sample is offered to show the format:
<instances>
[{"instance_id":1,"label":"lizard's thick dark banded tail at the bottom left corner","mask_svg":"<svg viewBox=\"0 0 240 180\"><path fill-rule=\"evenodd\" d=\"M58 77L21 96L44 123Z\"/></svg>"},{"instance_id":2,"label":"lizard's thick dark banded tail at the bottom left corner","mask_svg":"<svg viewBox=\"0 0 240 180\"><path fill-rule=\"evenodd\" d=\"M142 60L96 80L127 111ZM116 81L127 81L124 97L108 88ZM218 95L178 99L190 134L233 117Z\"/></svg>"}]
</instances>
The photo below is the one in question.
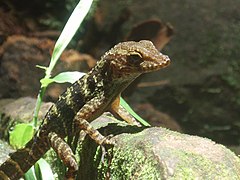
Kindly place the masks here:
<instances>
[{"instance_id":1,"label":"lizard's thick dark banded tail at the bottom left corner","mask_svg":"<svg viewBox=\"0 0 240 180\"><path fill-rule=\"evenodd\" d=\"M49 145L44 141L33 138L25 148L11 153L10 158L0 165L0 180L17 180L21 178L48 149Z\"/></svg>"}]
</instances>

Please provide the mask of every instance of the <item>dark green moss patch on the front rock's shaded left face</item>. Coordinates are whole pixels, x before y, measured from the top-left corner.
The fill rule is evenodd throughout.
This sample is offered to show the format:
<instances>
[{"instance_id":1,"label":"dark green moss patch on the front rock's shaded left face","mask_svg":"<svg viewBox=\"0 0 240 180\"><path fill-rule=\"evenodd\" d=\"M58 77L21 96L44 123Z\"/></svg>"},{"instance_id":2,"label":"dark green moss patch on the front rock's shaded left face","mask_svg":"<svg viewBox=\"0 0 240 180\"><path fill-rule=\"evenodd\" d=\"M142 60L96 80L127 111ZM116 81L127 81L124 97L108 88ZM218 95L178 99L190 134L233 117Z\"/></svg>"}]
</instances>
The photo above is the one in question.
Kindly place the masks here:
<instances>
[{"instance_id":1,"label":"dark green moss patch on the front rock's shaded left face","mask_svg":"<svg viewBox=\"0 0 240 180\"><path fill-rule=\"evenodd\" d=\"M134 136L134 135L133 135ZM127 136L124 141L131 144L133 137ZM134 143L132 143L134 144ZM121 145L120 145L121 146ZM162 170L153 157L146 158L146 148L136 148L135 146L125 146L127 149L116 147L113 149L114 157L109 163L100 164L99 172L109 172L111 179L161 179ZM147 148L148 149L148 148ZM151 148L149 148L151 149ZM104 170L103 170L104 169ZM105 179L104 174L100 174L99 179Z\"/></svg>"}]
</instances>

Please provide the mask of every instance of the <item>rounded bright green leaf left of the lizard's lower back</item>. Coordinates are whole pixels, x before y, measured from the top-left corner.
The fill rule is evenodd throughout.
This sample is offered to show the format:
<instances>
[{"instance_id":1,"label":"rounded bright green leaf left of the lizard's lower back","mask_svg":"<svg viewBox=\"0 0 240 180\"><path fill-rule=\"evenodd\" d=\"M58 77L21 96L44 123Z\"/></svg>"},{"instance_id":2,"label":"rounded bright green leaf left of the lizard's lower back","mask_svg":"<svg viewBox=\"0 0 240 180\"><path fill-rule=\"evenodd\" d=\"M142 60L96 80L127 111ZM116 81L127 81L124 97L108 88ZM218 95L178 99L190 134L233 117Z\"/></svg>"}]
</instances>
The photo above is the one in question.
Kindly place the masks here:
<instances>
[{"instance_id":1,"label":"rounded bright green leaf left of the lizard's lower back","mask_svg":"<svg viewBox=\"0 0 240 180\"><path fill-rule=\"evenodd\" d=\"M10 144L16 148L22 148L33 137L34 127L31 124L17 124L14 130L9 132Z\"/></svg>"}]
</instances>

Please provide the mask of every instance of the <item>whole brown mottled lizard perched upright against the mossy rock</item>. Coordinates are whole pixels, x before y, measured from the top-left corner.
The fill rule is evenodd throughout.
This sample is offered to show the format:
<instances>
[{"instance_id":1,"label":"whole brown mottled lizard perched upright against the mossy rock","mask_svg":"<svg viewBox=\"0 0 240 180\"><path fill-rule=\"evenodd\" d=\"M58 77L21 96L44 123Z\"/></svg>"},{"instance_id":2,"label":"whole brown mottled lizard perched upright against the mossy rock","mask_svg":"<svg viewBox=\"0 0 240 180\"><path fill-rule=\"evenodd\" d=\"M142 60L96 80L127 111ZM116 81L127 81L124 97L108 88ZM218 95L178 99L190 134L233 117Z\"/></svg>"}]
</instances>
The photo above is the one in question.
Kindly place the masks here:
<instances>
[{"instance_id":1,"label":"whole brown mottled lizard perched upright against the mossy rock","mask_svg":"<svg viewBox=\"0 0 240 180\"><path fill-rule=\"evenodd\" d=\"M128 41L115 45L88 73L59 96L25 147L11 153L0 165L0 180L21 178L50 148L68 168L65 177L74 179L78 164L64 138L84 130L99 145L114 144L90 122L110 111L129 124L139 126L120 105L120 94L139 75L157 71L169 63L169 57L159 52L151 41Z\"/></svg>"}]
</instances>

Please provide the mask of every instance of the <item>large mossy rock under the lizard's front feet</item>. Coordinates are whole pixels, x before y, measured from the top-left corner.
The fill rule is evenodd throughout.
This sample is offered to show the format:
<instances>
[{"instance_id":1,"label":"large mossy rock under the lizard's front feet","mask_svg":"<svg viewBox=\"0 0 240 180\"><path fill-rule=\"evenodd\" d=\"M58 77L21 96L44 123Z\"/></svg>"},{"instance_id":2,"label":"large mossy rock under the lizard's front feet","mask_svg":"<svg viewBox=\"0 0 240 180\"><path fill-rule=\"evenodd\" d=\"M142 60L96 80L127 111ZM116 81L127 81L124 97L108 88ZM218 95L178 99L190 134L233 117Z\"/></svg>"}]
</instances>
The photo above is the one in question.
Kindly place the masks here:
<instances>
[{"instance_id":1,"label":"large mossy rock under the lizard's front feet","mask_svg":"<svg viewBox=\"0 0 240 180\"><path fill-rule=\"evenodd\" d=\"M97 121L100 123L99 119ZM105 131L108 128L110 127L104 128ZM91 157L94 146L87 143L88 148L83 146L81 154L90 156L86 161L81 157L83 161L80 164L80 178L86 179L89 176L93 179L104 179L106 176L110 179L176 180L240 178L240 159L223 145L207 138L157 127L141 130L133 127L111 128L112 133L119 131L121 133L113 138L117 145L109 150L109 159L103 164L99 162L99 158L95 158L97 160L94 161L94 156ZM125 128L127 133L123 133ZM90 165L91 172L95 172L91 175L87 175L87 172L90 172L89 160L93 160L95 166L94 169ZM99 166L96 167L96 164Z\"/></svg>"}]
</instances>

